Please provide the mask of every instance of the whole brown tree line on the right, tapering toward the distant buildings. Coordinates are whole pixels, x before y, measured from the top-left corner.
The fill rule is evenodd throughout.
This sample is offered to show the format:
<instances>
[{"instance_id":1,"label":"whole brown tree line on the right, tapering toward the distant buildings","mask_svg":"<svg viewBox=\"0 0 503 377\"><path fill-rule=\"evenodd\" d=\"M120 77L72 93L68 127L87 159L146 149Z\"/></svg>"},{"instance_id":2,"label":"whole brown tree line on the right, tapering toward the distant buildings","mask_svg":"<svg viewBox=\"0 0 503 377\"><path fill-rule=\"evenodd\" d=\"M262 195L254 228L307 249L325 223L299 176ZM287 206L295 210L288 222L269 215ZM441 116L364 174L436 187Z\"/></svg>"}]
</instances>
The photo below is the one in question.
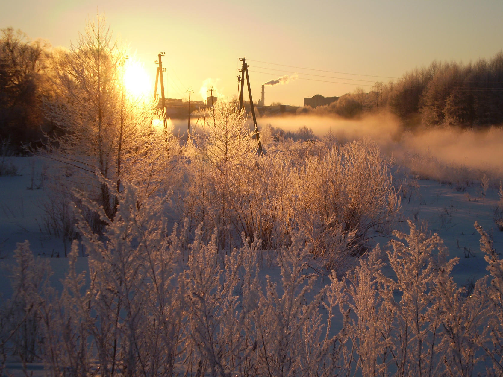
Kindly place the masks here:
<instances>
[{"instance_id":1,"label":"whole brown tree line on the right, tapering toward the distant buildings","mask_svg":"<svg viewBox=\"0 0 503 377\"><path fill-rule=\"evenodd\" d=\"M389 111L406 126L483 127L503 123L503 52L475 63L432 62L398 81L359 87L338 101L298 113L355 118Z\"/></svg>"}]
</instances>

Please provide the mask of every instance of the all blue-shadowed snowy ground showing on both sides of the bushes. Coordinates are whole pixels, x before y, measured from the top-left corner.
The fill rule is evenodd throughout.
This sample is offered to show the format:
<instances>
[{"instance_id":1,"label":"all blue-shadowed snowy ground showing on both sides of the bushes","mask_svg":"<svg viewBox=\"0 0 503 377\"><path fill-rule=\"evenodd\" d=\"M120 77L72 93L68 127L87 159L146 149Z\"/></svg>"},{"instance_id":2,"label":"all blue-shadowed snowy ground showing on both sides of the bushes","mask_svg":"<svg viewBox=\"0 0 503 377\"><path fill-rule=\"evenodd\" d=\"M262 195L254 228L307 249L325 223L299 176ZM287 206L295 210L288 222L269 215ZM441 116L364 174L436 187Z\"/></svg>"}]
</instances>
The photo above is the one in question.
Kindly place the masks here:
<instances>
[{"instance_id":1,"label":"all blue-shadowed snowy ground showing on both sides of the bushes","mask_svg":"<svg viewBox=\"0 0 503 377\"><path fill-rule=\"evenodd\" d=\"M51 284L61 290L61 279L68 268L64 258L69 250L68 242L51 237L44 231L42 202L47 195L47 175L51 172L51 162L35 157L7 157L4 162L17 168L17 175L0 176L0 257L4 270L0 274L0 300L10 297L9 282L13 262L13 250L18 242L28 240L35 255L47 258L52 270ZM497 253L503 251L503 232L493 220L493 211L498 203L498 190L494 184L484 192L480 182L474 180L469 185L456 187L438 181L407 177L402 182L401 213L393 228L408 232L407 220L419 229L437 233L449 250L450 257L459 257L452 276L458 286L470 288L474 282L487 274L487 263L479 248L480 235L475 230L475 221L489 234ZM386 249L389 238L378 234L372 243L379 243ZM77 270L87 269L87 258L79 257ZM384 273L389 274L388 268ZM274 265L261 272L280 280L279 267ZM327 281L327 279L325 280ZM23 366L16 358L8 358L6 367L13 375L24 375ZM32 375L43 375L43 364L26 366Z\"/></svg>"}]
</instances>

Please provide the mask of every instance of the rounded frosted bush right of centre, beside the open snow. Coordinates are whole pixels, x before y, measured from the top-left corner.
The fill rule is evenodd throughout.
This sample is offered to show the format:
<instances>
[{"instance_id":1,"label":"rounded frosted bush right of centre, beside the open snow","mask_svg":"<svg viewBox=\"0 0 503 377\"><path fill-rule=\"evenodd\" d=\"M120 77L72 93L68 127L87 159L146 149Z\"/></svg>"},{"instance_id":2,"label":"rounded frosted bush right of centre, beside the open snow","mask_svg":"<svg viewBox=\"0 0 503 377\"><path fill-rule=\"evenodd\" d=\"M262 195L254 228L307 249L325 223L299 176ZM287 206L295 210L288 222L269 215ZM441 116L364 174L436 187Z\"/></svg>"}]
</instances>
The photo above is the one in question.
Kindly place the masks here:
<instances>
[{"instance_id":1,"label":"rounded frosted bush right of centre, beside the open snow","mask_svg":"<svg viewBox=\"0 0 503 377\"><path fill-rule=\"evenodd\" d=\"M295 169L292 181L298 224L329 267L348 251L358 253L371 230L385 229L400 208L388 165L370 142L333 146Z\"/></svg>"}]
</instances>

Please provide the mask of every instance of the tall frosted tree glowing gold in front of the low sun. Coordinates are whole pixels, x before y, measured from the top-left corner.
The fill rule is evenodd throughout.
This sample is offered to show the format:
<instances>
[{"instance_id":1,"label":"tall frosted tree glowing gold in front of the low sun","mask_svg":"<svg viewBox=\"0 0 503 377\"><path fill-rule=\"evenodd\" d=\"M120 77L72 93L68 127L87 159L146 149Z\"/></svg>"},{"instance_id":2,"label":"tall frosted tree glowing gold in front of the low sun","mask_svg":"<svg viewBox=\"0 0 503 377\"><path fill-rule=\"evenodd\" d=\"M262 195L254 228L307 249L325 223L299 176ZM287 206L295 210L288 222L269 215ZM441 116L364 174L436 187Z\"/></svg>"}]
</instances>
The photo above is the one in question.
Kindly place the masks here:
<instances>
[{"instance_id":1,"label":"tall frosted tree glowing gold in front of the low sun","mask_svg":"<svg viewBox=\"0 0 503 377\"><path fill-rule=\"evenodd\" d=\"M109 219L118 198L98 178L113 180L118 192L127 179L140 187L140 198L148 196L165 182L165 171L172 169L169 151L175 150L170 130L152 127L162 117L155 104L125 91L125 64L125 51L99 16L54 59L51 76L58 89L44 103L46 117L60 129L48 137L46 152L76 171L74 183L93 195Z\"/></svg>"}]
</instances>

